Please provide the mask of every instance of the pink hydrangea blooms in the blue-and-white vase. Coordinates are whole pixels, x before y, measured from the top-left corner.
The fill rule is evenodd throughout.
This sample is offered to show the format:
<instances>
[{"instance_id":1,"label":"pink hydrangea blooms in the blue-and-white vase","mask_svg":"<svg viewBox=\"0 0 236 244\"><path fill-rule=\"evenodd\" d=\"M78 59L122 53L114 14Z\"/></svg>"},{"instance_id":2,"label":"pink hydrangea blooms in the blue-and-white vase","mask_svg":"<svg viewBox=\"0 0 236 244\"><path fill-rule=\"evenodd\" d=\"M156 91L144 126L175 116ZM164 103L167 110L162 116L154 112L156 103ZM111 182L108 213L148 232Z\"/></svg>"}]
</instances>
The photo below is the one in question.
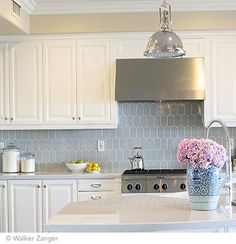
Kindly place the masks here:
<instances>
[{"instance_id":1,"label":"pink hydrangea blooms in the blue-and-white vase","mask_svg":"<svg viewBox=\"0 0 236 244\"><path fill-rule=\"evenodd\" d=\"M227 155L225 148L211 139L183 139L178 145L177 160L193 168L221 168Z\"/></svg>"}]
</instances>

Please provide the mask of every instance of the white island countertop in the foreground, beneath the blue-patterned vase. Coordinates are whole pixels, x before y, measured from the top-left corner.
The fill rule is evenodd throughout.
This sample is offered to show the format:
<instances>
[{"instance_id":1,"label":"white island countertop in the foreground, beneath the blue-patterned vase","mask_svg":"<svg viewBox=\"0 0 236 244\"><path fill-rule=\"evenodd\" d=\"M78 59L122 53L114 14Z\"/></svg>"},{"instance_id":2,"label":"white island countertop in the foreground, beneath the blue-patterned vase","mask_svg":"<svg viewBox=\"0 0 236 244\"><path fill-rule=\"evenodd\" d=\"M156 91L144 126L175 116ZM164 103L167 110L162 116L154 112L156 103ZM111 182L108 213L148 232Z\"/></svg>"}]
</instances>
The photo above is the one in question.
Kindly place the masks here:
<instances>
[{"instance_id":1,"label":"white island countertop in the foreground, beneath the blue-patterned vase","mask_svg":"<svg viewBox=\"0 0 236 244\"><path fill-rule=\"evenodd\" d=\"M44 225L46 232L168 232L236 228L236 207L191 210L187 192L123 194L68 204Z\"/></svg>"}]
</instances>

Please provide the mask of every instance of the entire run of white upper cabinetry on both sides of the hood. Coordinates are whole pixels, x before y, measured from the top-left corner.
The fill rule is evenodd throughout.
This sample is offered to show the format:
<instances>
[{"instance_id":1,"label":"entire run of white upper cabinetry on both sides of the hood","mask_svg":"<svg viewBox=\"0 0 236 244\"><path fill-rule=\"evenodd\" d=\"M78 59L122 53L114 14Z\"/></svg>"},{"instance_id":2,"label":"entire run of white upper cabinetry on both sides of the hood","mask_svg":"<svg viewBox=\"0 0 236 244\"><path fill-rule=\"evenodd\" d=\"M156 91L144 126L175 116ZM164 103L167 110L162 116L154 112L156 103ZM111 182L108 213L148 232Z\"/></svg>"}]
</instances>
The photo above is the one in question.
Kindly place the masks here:
<instances>
[{"instance_id":1,"label":"entire run of white upper cabinetry on both sides of the hood","mask_svg":"<svg viewBox=\"0 0 236 244\"><path fill-rule=\"evenodd\" d=\"M236 35L219 33L183 32L181 40L186 57L205 60L203 124L218 118L236 126ZM0 128L117 128L116 59L145 58L148 38L147 33L28 37L19 43L3 38Z\"/></svg>"}]
</instances>

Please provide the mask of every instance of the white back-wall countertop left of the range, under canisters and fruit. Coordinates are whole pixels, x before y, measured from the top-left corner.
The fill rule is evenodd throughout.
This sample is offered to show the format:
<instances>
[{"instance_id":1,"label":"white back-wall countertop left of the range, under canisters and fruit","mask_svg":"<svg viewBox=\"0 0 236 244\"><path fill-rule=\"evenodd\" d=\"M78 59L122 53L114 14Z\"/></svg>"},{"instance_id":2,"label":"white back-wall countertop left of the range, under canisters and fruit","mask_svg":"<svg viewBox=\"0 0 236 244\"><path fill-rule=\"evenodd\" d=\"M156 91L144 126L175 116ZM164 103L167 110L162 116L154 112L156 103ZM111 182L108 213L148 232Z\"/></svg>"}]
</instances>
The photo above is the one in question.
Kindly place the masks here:
<instances>
[{"instance_id":1,"label":"white back-wall countertop left of the range, under canisters and fruit","mask_svg":"<svg viewBox=\"0 0 236 244\"><path fill-rule=\"evenodd\" d=\"M0 173L0 180L36 180L36 179L102 179L102 178L119 178L117 172L100 172L100 173L72 173L67 171L49 171L35 173Z\"/></svg>"}]
</instances>

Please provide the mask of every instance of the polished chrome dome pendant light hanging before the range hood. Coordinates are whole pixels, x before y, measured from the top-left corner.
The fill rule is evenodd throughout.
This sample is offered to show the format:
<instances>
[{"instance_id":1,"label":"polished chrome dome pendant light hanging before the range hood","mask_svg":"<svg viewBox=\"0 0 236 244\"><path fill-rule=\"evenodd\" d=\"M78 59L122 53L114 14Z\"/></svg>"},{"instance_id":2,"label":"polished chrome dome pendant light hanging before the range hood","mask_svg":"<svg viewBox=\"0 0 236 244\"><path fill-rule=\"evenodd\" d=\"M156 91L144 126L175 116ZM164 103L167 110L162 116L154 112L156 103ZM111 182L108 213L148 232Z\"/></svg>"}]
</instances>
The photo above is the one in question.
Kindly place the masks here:
<instances>
[{"instance_id":1,"label":"polished chrome dome pendant light hanging before the range hood","mask_svg":"<svg viewBox=\"0 0 236 244\"><path fill-rule=\"evenodd\" d=\"M155 58L184 56L182 41L172 29L171 6L165 0L159 7L159 14L160 30L149 38L144 56Z\"/></svg>"}]
</instances>

